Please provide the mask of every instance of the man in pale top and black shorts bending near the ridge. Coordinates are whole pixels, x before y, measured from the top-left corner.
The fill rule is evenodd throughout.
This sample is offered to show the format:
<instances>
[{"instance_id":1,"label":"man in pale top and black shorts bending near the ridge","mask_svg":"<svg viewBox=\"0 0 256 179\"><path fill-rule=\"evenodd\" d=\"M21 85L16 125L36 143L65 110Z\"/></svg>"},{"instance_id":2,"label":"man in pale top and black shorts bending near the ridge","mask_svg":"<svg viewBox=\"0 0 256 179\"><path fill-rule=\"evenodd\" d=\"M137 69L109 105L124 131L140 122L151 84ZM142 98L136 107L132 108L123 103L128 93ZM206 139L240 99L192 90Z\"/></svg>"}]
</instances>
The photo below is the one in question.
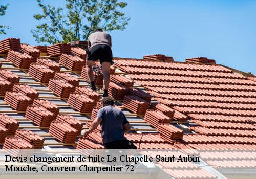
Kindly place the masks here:
<instances>
[{"instance_id":1,"label":"man in pale top and black shorts bending near the ridge","mask_svg":"<svg viewBox=\"0 0 256 179\"><path fill-rule=\"evenodd\" d=\"M110 83L110 66L113 62L112 42L110 34L103 32L102 29L96 29L88 37L88 50L86 59L87 76L90 81L90 87L96 91L94 83L93 69L94 63L99 60L103 71L103 97L108 95Z\"/></svg>"}]
</instances>

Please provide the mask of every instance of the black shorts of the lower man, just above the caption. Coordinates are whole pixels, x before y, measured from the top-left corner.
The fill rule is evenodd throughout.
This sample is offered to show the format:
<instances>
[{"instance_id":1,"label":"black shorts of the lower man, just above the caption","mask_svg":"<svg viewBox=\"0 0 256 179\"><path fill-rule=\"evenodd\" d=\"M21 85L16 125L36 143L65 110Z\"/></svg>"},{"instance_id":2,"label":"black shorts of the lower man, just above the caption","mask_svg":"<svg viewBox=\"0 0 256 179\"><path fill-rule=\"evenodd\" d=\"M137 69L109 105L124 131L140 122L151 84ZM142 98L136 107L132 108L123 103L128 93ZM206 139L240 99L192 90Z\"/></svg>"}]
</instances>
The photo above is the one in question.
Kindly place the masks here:
<instances>
[{"instance_id":1,"label":"black shorts of the lower man, just above the caption","mask_svg":"<svg viewBox=\"0 0 256 179\"><path fill-rule=\"evenodd\" d=\"M106 149L137 149L129 140L116 140L105 144Z\"/></svg>"}]
</instances>

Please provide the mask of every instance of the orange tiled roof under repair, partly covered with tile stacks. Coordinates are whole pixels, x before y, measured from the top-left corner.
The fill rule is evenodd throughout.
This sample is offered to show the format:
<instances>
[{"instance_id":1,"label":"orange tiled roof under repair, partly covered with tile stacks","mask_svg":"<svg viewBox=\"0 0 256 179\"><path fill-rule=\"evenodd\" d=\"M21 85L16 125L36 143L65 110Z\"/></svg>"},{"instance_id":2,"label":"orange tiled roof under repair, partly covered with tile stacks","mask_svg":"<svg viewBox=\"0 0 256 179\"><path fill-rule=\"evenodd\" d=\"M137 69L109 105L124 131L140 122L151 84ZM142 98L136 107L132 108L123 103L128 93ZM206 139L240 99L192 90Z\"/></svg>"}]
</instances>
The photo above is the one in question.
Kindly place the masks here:
<instances>
[{"instance_id":1,"label":"orange tiled roof under repair, partly covered with tile stacks","mask_svg":"<svg viewBox=\"0 0 256 179\"><path fill-rule=\"evenodd\" d=\"M8 43L11 44L11 41L9 40ZM100 107L100 103L96 101L102 95L100 86L97 86L98 94L90 92L88 88L81 88L89 86L85 75L86 69L83 68L85 51L79 48L72 48L70 51L68 44L62 46L61 43L50 48L40 46L44 52L38 50L40 59L37 60L38 54L34 53L38 52L34 49L31 51L26 49L24 50L26 55L20 55L21 50L17 43L16 40L15 46L8 47L12 50L11 53L8 53L6 48L1 51L0 47L2 64L0 71L3 71L0 76L4 78L3 74L9 75L7 77L5 75L4 79L1 78L1 90L11 90L11 84L8 85L6 81L12 84L17 82L27 84L38 92L39 99L48 100L50 106L55 105L54 109L47 108L51 111L48 115L68 114L83 124L79 126L77 123L69 122L68 125L72 129L66 124L53 123L51 127L40 126L39 123L36 125L33 123L36 112L30 112L34 114L31 117L26 110L13 109L10 106L13 105L10 99L5 99L5 93L0 99L0 113L17 120L18 129L31 130L44 138L44 147L74 149L80 142L79 146L82 148L102 148L100 128L98 132L91 133L87 138L80 135L81 131L73 131L73 128L88 129L93 115L95 117L97 108ZM56 50L53 47L60 49ZM39 46L35 48L39 49ZM15 53L17 49L19 52ZM46 49L51 56L45 52ZM73 55L63 55L71 52ZM74 57L74 54L77 56ZM32 58L29 57L30 55ZM30 60L30 63L40 64L37 65L39 68L31 65L28 69L27 66L30 64L23 64L24 59ZM126 137L141 149L256 149L256 78L227 66L215 64L214 60L207 61L207 58L198 57L186 61L177 62L172 57L164 55L145 56L145 59L114 58L115 69L113 67L111 69L112 83L109 92L116 99L115 106L124 112L131 123L132 130ZM68 75L61 75L58 72ZM101 84L101 71L95 71L94 74L96 84ZM16 77L19 78L18 81ZM50 80L53 77L58 80ZM4 88L5 85L7 88ZM74 87L70 87L73 85ZM68 99L69 94L74 91L75 94L70 95ZM28 101L24 102L25 104L32 103ZM156 114L160 113L160 115L154 115L152 110L157 110ZM42 116L44 119L38 117L39 122L45 120L45 124L48 124L49 116L47 114ZM62 119L57 123L61 122L65 120ZM70 138L62 139L63 135L58 136L58 133L54 132L58 127L62 129L63 135L68 133ZM53 131L49 132L49 129ZM0 139L2 138L0 136ZM73 142L67 143L67 141ZM83 141L86 141L87 145L83 145ZM212 163L213 160L209 160ZM170 173L176 175L179 171L170 171Z\"/></svg>"}]
</instances>

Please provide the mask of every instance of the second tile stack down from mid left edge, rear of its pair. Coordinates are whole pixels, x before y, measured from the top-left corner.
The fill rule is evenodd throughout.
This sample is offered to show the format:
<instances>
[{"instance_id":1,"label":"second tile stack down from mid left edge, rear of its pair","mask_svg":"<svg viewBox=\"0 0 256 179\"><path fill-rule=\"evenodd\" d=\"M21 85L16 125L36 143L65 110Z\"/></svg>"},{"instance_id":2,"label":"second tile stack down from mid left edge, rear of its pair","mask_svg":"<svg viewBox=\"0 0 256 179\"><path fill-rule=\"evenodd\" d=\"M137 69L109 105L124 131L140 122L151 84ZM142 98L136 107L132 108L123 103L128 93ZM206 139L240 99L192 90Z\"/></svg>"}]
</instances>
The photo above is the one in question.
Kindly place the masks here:
<instances>
[{"instance_id":1,"label":"second tile stack down from mid left edge, rear of its pair","mask_svg":"<svg viewBox=\"0 0 256 179\"><path fill-rule=\"evenodd\" d=\"M28 96L32 100L34 100L35 98L38 98L39 96L39 93L36 91L36 89L34 89L33 87L30 87L27 84L19 84L19 83L14 84L13 91L20 92Z\"/></svg>"}]
</instances>

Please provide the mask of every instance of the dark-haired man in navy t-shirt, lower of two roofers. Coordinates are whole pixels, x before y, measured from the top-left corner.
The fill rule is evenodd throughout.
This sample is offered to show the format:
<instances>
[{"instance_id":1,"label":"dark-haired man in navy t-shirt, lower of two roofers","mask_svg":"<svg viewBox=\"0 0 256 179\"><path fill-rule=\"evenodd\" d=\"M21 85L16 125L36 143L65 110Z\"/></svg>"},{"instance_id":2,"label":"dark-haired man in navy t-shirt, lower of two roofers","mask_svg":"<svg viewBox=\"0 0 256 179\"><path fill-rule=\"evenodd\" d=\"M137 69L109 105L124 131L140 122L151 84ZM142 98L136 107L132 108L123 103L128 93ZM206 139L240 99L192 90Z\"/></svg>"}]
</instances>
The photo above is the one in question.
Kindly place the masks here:
<instances>
[{"instance_id":1,"label":"dark-haired man in navy t-shirt, lower of two roofers","mask_svg":"<svg viewBox=\"0 0 256 179\"><path fill-rule=\"evenodd\" d=\"M112 97L103 98L102 106L84 136L87 136L100 124L102 143L106 149L137 149L132 142L124 137L124 132L130 131L131 127L123 112L114 107L114 99Z\"/></svg>"}]
</instances>

